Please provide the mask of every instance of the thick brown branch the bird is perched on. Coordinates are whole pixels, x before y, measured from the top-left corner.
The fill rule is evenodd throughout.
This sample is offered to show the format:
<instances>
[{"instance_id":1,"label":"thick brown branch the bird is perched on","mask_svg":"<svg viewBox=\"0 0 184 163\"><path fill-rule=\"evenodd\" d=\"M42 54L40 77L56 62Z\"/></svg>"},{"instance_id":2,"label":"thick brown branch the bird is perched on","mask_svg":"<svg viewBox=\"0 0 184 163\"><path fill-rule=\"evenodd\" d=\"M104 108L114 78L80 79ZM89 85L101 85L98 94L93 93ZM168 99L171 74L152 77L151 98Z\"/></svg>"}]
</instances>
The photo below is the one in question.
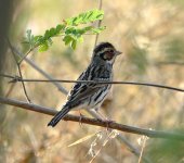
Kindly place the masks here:
<instances>
[{"instance_id":1,"label":"thick brown branch the bird is perched on","mask_svg":"<svg viewBox=\"0 0 184 163\"><path fill-rule=\"evenodd\" d=\"M50 109L50 108L44 108L41 105L17 101L13 99L0 98L0 103L14 105L21 109L30 110L30 111L35 111L35 112L39 112L39 113L43 113L48 115L55 115L57 113L57 111ZM182 133L149 130L149 129L144 129L144 128L139 128L139 127L122 125L122 124L118 124L115 122L109 123L103 120L95 120L95 118L89 118L89 117L81 118L80 116L76 116L76 115L66 115L64 117L64 121L81 122L84 124L101 126L101 127L108 126L108 128L111 128L111 129L117 129L120 131L126 131L126 133L131 133L131 134L136 134L136 135L144 135L149 138L163 138L163 139L174 139L174 140L184 141L184 134Z\"/></svg>"}]
</instances>

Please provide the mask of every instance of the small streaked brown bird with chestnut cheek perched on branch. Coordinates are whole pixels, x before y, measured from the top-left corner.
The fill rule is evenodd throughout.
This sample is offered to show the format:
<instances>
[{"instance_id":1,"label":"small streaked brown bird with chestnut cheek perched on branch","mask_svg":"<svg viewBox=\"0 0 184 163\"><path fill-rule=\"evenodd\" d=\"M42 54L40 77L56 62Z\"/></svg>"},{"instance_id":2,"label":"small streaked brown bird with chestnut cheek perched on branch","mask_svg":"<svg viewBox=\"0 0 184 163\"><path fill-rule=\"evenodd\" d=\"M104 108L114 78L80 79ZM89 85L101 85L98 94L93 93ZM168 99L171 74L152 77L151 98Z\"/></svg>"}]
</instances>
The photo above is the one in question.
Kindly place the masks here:
<instances>
[{"instance_id":1,"label":"small streaked brown bird with chestnut cheek perched on branch","mask_svg":"<svg viewBox=\"0 0 184 163\"><path fill-rule=\"evenodd\" d=\"M71 110L94 109L97 111L111 87L111 84L97 84L97 82L113 82L113 65L119 54L121 52L110 42L101 42L95 46L89 66L77 79L93 80L93 83L76 83L62 110L55 114L48 126L54 127Z\"/></svg>"}]
</instances>

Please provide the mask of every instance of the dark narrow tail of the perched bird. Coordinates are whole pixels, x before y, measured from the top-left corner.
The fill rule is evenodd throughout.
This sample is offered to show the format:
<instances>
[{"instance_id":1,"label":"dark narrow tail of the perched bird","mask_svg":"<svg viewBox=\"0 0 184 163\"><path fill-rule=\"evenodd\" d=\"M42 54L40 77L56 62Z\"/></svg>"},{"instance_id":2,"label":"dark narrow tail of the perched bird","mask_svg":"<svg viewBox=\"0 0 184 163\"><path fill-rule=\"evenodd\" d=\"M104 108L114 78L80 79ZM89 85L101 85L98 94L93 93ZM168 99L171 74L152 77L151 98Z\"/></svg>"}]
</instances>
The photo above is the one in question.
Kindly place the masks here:
<instances>
[{"instance_id":1,"label":"dark narrow tail of the perched bird","mask_svg":"<svg viewBox=\"0 0 184 163\"><path fill-rule=\"evenodd\" d=\"M54 127L70 110L68 108L63 108L51 120L48 126Z\"/></svg>"}]
</instances>

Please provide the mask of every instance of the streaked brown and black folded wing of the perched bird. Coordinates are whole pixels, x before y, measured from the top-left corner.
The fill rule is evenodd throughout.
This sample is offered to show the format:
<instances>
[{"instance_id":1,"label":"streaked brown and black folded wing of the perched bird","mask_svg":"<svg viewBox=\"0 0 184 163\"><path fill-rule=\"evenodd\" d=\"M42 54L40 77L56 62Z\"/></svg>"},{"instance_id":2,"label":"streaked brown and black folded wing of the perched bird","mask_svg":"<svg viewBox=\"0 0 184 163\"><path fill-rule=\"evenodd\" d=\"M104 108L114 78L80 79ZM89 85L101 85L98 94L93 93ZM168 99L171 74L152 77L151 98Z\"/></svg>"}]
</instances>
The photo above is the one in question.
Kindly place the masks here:
<instances>
[{"instance_id":1,"label":"streaked brown and black folded wing of the perched bird","mask_svg":"<svg viewBox=\"0 0 184 163\"><path fill-rule=\"evenodd\" d=\"M90 64L89 67L79 76L78 80L110 80L110 73L108 68L100 65ZM82 100L97 92L100 89L108 87L106 84L95 83L77 83L70 90L65 106L77 106Z\"/></svg>"}]
</instances>

